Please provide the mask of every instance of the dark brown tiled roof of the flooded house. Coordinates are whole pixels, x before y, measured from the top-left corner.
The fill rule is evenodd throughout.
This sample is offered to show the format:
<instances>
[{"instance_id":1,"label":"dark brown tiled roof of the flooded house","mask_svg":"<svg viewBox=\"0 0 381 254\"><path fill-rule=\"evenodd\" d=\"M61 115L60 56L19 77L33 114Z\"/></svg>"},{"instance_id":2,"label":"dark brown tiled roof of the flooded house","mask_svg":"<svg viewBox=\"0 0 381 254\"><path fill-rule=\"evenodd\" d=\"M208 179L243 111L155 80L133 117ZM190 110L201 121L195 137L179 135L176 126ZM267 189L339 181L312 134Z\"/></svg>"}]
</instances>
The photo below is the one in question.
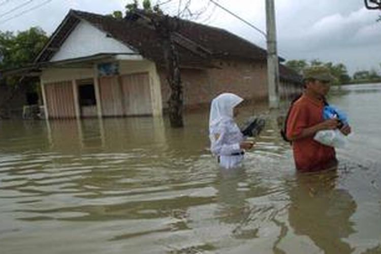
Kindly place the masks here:
<instances>
[{"instance_id":1,"label":"dark brown tiled roof of the flooded house","mask_svg":"<svg viewBox=\"0 0 381 254\"><path fill-rule=\"evenodd\" d=\"M152 14L151 14L152 15ZM149 16L147 14L147 16ZM174 18L170 18L174 20ZM48 61L54 50L60 47L67 35L80 20L85 20L98 27L110 37L135 49L144 57L155 62L163 62L161 39L156 31L143 22L133 19L116 19L94 13L71 10L65 20L51 37L47 47L37 57L36 62ZM195 22L177 19L178 34L196 45L206 49L210 54L200 55L179 46L180 60L183 65L200 65L211 58L245 58L266 59L266 51L240 37L220 28L206 26ZM206 59L208 58L208 59Z\"/></svg>"}]
</instances>

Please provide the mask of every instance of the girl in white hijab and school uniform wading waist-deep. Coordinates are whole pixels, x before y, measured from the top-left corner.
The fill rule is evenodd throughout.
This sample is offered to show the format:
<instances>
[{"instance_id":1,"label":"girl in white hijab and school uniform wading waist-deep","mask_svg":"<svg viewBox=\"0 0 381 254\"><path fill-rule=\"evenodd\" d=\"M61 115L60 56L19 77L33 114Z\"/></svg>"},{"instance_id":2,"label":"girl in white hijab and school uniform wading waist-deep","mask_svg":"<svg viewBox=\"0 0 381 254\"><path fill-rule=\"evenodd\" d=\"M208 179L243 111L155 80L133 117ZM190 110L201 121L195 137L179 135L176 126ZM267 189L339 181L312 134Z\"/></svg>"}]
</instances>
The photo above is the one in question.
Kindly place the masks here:
<instances>
[{"instance_id":1,"label":"girl in white hijab and school uniform wading waist-deep","mask_svg":"<svg viewBox=\"0 0 381 254\"><path fill-rule=\"evenodd\" d=\"M243 160L244 150L251 149L252 142L244 137L234 122L237 106L243 101L233 93L222 93L213 99L209 116L210 150L224 168L238 166Z\"/></svg>"}]
</instances>

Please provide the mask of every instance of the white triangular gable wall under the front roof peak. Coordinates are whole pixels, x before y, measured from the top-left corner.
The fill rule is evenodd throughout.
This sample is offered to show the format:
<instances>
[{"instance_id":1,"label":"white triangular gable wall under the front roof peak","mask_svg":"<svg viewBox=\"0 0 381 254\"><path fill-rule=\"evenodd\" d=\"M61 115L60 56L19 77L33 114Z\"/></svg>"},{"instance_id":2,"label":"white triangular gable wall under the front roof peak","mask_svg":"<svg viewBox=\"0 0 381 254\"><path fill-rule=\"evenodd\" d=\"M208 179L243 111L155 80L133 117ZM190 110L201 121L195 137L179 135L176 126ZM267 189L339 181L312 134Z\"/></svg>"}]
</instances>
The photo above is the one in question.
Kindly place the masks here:
<instances>
[{"instance_id":1,"label":"white triangular gable wall under the front roof peak","mask_svg":"<svg viewBox=\"0 0 381 254\"><path fill-rule=\"evenodd\" d=\"M137 53L106 33L81 21L50 61L66 60L99 53Z\"/></svg>"}]
</instances>

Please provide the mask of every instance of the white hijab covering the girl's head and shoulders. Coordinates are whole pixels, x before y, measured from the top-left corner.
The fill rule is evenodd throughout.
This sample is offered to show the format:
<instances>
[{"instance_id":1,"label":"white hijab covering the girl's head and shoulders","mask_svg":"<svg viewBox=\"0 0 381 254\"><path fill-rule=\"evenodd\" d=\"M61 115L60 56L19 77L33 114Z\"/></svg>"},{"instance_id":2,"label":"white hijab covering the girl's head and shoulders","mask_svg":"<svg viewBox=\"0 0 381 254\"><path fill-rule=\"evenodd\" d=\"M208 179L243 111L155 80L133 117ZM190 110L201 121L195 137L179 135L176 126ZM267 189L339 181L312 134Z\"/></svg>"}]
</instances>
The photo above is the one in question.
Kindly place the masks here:
<instances>
[{"instance_id":1,"label":"white hijab covering the girl's head and shoulders","mask_svg":"<svg viewBox=\"0 0 381 254\"><path fill-rule=\"evenodd\" d=\"M223 120L233 119L233 108L243 99L234 93L221 93L212 100L209 115L209 134L215 134L218 125Z\"/></svg>"}]
</instances>

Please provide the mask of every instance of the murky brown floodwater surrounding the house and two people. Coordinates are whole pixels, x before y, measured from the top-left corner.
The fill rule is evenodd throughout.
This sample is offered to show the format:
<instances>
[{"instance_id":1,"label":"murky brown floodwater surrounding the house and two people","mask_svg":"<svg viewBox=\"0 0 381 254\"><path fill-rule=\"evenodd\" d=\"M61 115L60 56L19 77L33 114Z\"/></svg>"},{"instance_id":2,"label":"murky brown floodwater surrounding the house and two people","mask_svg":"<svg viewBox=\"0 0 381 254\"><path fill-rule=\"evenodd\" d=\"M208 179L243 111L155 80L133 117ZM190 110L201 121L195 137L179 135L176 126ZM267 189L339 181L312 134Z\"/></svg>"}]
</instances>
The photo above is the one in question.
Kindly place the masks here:
<instances>
[{"instance_id":1,"label":"murky brown floodwater surrounding the house and two people","mask_svg":"<svg viewBox=\"0 0 381 254\"><path fill-rule=\"evenodd\" d=\"M381 253L381 84L334 89L353 128L337 171L296 174L276 113L219 169L207 112L0 121L1 253Z\"/></svg>"}]
</instances>

